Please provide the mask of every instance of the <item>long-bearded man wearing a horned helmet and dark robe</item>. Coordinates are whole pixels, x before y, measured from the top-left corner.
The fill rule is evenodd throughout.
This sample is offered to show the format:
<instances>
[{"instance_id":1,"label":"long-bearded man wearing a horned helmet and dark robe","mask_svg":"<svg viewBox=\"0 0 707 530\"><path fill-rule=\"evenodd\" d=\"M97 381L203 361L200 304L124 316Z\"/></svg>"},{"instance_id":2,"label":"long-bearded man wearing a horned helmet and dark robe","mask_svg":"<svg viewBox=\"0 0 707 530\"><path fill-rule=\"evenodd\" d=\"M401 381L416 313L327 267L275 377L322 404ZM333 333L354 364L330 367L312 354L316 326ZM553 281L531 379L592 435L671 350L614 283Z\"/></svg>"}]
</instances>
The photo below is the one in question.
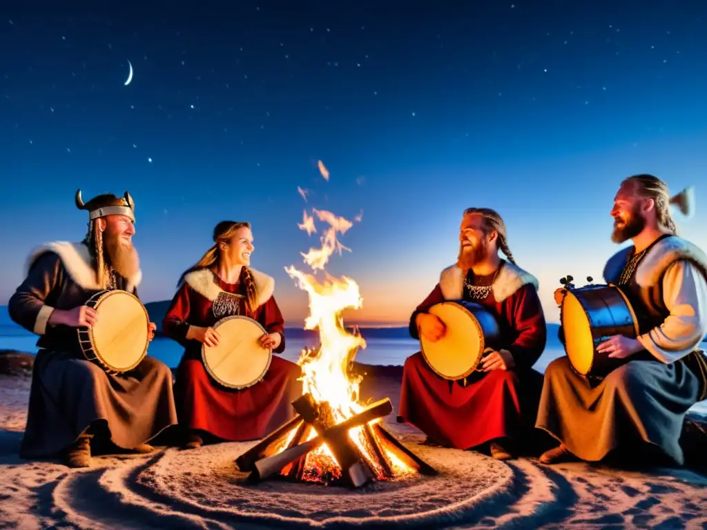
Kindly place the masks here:
<instances>
[{"instance_id":1,"label":"long-bearded man wearing a horned helmet and dark robe","mask_svg":"<svg viewBox=\"0 0 707 530\"><path fill-rule=\"evenodd\" d=\"M112 375L83 355L77 328L92 326L98 316L86 302L102 290L137 295L141 271L128 192L84 203L78 190L76 207L88 211L86 238L35 249L8 311L40 336L21 457L61 456L71 467L86 467L91 444L151 452L146 442L176 425L177 413L172 374L163 363L146 356L133 370ZM148 324L151 336L155 329Z\"/></svg>"}]
</instances>

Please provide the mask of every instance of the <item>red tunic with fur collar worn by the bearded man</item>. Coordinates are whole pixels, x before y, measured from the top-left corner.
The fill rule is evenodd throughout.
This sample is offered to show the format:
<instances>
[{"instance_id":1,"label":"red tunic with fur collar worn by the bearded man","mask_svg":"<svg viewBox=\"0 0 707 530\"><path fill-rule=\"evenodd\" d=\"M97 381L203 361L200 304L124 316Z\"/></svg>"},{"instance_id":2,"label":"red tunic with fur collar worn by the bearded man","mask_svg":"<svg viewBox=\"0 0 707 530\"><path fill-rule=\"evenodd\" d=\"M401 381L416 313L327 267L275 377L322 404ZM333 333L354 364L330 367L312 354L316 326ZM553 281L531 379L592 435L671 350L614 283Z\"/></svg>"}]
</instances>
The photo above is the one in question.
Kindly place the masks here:
<instances>
[{"instance_id":1,"label":"red tunic with fur collar worn by the bearded man","mask_svg":"<svg viewBox=\"0 0 707 530\"><path fill-rule=\"evenodd\" d=\"M466 387L436 375L420 352L407 358L399 415L448 447L469 449L496 438L518 437L523 427L532 432L542 376L531 367L544 350L547 328L537 281L512 264L504 264L501 271L505 273L499 273L486 300L471 300L460 269L445 269L410 319L410 334L419 338L419 312L445 300L477 302L496 315L505 342L501 348L513 354L513 369L474 373Z\"/></svg>"}]
</instances>

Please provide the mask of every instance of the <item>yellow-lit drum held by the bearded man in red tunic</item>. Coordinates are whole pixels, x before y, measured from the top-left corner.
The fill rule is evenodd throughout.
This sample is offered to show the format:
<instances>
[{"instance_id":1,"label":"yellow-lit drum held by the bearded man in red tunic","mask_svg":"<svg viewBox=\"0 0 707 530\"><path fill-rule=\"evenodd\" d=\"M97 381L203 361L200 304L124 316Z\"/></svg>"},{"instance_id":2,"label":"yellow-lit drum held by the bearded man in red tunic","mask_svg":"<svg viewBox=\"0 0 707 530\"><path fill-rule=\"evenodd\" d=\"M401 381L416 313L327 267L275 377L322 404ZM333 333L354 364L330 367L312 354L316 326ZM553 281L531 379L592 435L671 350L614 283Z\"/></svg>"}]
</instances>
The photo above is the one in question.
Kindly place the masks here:
<instances>
[{"instance_id":1,"label":"yellow-lit drum held by the bearded man in red tunic","mask_svg":"<svg viewBox=\"0 0 707 530\"><path fill-rule=\"evenodd\" d=\"M457 300L433 305L428 311L440 319L447 331L437 342L420 334L422 356L433 372L455 381L471 375L486 348L498 344L498 322L479 304Z\"/></svg>"}]
</instances>

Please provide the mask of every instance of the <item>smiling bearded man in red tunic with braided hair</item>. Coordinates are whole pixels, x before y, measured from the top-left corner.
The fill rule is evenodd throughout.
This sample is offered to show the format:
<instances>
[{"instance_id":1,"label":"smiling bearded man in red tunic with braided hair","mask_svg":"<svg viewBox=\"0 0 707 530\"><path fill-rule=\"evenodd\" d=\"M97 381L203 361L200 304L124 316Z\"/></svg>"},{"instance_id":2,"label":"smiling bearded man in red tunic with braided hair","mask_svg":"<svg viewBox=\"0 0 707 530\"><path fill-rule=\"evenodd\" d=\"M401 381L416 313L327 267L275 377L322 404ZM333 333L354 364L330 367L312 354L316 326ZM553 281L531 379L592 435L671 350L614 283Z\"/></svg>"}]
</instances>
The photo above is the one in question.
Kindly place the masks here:
<instances>
[{"instance_id":1,"label":"smiling bearded man in red tunic with braided hair","mask_svg":"<svg viewBox=\"0 0 707 530\"><path fill-rule=\"evenodd\" d=\"M445 324L428 310L445 300L467 300L496 317L503 348L486 353L479 371L453 382L436 375L420 352L411 355L404 365L398 420L422 430L426 444L488 445L494 458L510 459L517 454L519 435L526 428L532 432L542 388L542 376L532 370L547 338L538 283L515 264L506 225L496 211L467 208L459 238L457 264L442 271L413 312L410 334L438 341ZM499 249L507 260L498 256Z\"/></svg>"}]
</instances>

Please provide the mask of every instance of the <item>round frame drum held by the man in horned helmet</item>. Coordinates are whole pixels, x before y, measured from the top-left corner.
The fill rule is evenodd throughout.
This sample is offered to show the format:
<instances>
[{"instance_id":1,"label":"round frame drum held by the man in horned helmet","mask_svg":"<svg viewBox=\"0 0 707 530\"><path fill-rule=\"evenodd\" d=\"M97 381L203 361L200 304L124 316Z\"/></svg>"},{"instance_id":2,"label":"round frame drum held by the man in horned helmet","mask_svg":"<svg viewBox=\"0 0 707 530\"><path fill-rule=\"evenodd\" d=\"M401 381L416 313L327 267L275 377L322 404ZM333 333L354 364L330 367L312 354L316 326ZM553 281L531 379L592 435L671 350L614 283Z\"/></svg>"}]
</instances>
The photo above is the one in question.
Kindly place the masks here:
<instances>
[{"instance_id":1,"label":"round frame drum held by the man in horned helmet","mask_svg":"<svg viewBox=\"0 0 707 530\"><path fill-rule=\"evenodd\" d=\"M86 359L111 373L128 372L139 365L150 343L150 317L139 298L125 290L103 290L85 305L98 313L93 326L77 330Z\"/></svg>"}]
</instances>

